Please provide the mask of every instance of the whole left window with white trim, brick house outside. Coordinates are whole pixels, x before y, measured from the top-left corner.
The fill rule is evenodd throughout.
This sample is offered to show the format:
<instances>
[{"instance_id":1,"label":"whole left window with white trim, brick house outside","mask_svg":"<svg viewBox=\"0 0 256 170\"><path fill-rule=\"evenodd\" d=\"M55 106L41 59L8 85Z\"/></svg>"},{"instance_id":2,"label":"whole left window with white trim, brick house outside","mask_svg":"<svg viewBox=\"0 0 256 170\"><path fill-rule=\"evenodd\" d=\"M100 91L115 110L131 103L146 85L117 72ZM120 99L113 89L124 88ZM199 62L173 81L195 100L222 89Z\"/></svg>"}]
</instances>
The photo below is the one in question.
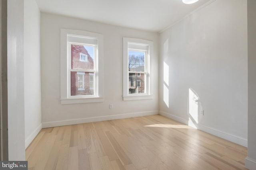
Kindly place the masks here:
<instances>
[{"instance_id":1,"label":"whole left window with white trim, brick house outside","mask_svg":"<svg viewBox=\"0 0 256 170\"><path fill-rule=\"evenodd\" d=\"M61 104L103 102L103 36L61 29Z\"/></svg>"}]
</instances>

